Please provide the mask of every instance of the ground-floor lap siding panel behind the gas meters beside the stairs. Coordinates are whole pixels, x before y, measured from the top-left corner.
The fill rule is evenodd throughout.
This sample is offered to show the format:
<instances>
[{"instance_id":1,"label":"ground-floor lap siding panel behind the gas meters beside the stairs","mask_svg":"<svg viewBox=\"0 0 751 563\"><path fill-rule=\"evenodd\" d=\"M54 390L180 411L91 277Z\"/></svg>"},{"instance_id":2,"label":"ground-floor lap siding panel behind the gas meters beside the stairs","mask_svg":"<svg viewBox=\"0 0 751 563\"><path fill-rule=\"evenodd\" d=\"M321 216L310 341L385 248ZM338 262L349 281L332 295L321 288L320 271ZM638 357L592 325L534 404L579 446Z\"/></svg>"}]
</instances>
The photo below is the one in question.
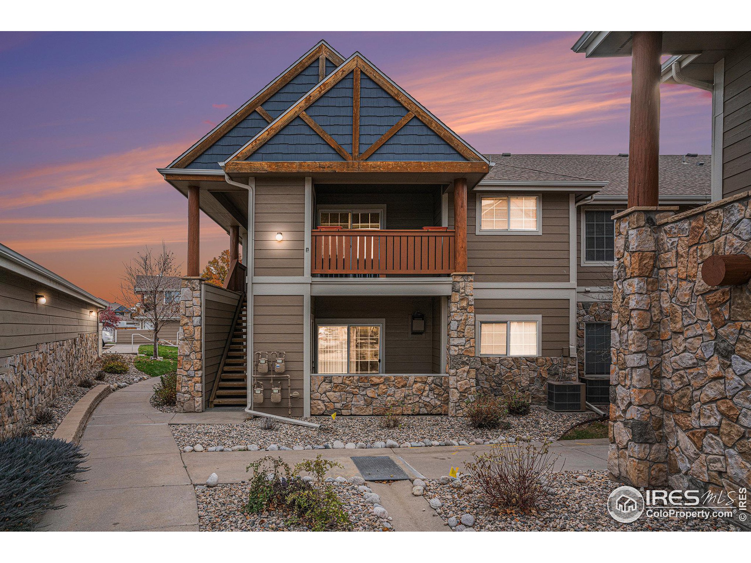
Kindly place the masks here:
<instances>
[{"instance_id":1,"label":"ground-floor lap siding panel behind the gas meters beside the stairs","mask_svg":"<svg viewBox=\"0 0 751 563\"><path fill-rule=\"evenodd\" d=\"M303 296L302 295L256 295L253 298L253 351L285 352L286 371L290 375L292 392L300 394L292 399L292 416L303 416ZM270 359L273 356L270 354ZM253 359L249 358L249 362ZM273 366L269 374L273 374ZM288 416L288 390L286 378L282 381L282 402L271 402L271 378L261 378L264 384L264 402L255 405L256 410Z\"/></svg>"}]
</instances>

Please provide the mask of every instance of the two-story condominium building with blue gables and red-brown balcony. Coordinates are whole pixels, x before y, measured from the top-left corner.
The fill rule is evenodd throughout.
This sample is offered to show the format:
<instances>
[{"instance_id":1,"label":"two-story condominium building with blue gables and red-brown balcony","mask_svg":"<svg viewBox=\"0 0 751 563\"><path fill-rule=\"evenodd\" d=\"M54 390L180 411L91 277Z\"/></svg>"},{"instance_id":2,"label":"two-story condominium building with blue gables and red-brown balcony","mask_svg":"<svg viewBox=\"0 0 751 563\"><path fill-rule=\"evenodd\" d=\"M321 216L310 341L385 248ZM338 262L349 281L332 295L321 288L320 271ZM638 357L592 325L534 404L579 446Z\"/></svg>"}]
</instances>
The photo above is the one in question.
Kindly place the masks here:
<instances>
[{"instance_id":1,"label":"two-story condominium building with blue gables and red-brown balcony","mask_svg":"<svg viewBox=\"0 0 751 563\"><path fill-rule=\"evenodd\" d=\"M709 199L708 156L662 165L670 203ZM189 207L178 407L461 414L607 375L627 167L483 155L321 41L159 170ZM200 211L230 236L225 288L198 278Z\"/></svg>"}]
</instances>

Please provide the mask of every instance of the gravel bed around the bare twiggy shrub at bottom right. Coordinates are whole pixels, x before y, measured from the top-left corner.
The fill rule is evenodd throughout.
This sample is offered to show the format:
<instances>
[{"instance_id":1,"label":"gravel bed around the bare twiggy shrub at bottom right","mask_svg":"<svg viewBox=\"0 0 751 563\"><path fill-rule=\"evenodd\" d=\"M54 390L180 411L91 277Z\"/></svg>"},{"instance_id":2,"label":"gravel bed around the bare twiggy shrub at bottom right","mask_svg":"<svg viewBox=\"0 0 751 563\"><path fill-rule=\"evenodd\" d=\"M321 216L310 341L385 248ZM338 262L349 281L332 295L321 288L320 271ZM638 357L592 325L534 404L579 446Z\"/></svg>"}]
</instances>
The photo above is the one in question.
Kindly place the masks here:
<instances>
[{"instance_id":1,"label":"gravel bed around the bare twiggy shrub at bottom right","mask_svg":"<svg viewBox=\"0 0 751 563\"><path fill-rule=\"evenodd\" d=\"M587 479L578 480L581 476ZM476 480L470 476L462 476L460 480L460 486L446 477L425 480L424 498L429 502L440 501L436 512L454 531L470 528L474 531L739 531L717 517L657 519L642 515L631 524L616 522L608 514L606 502L617 483L608 479L607 471L564 471L547 506L532 514L506 513L493 508ZM437 502L433 504L438 506Z\"/></svg>"}]
</instances>

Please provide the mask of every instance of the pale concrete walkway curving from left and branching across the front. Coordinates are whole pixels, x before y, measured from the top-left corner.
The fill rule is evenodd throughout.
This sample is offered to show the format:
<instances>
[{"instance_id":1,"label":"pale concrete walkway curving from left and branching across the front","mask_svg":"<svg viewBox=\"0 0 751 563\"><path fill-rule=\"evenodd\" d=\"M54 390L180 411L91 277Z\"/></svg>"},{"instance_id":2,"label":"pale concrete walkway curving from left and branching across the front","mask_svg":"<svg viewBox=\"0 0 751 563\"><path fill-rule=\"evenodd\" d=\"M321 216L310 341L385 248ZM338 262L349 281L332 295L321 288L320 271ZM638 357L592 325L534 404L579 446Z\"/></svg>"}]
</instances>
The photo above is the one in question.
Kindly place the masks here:
<instances>
[{"instance_id":1,"label":"pale concrete walkway curving from left and branching across the front","mask_svg":"<svg viewBox=\"0 0 751 563\"><path fill-rule=\"evenodd\" d=\"M240 423L241 410L213 413L164 414L149 404L152 381L140 381L104 399L92 414L81 445L89 453L89 471L80 483L69 483L57 498L65 504L44 517L47 530L136 531L198 530L193 483L206 483L210 474L220 483L247 480L246 466L269 452L180 453L168 423ZM422 447L395 450L294 450L273 452L290 465L324 453L342 465L333 477L359 475L352 456L390 456L411 479L438 478L451 467L463 468L473 453L489 446ZM569 471L607 468L608 440L559 441L558 467ZM369 483L399 531L448 531L422 497L412 496L412 483Z\"/></svg>"}]
</instances>

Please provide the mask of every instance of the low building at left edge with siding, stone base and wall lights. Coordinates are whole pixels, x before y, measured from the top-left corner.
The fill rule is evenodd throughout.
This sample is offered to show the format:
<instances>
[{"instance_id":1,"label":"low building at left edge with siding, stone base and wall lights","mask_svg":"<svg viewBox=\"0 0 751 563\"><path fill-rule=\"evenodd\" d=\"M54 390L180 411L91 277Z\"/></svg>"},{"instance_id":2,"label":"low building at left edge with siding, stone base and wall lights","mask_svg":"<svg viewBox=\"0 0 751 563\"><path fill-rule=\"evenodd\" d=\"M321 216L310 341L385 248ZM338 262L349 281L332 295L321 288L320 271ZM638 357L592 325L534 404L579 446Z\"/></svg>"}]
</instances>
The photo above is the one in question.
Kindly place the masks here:
<instances>
[{"instance_id":1,"label":"low building at left edge with siding, stone base and wall lights","mask_svg":"<svg viewBox=\"0 0 751 563\"><path fill-rule=\"evenodd\" d=\"M99 355L107 302L0 244L0 438L77 384Z\"/></svg>"}]
</instances>

